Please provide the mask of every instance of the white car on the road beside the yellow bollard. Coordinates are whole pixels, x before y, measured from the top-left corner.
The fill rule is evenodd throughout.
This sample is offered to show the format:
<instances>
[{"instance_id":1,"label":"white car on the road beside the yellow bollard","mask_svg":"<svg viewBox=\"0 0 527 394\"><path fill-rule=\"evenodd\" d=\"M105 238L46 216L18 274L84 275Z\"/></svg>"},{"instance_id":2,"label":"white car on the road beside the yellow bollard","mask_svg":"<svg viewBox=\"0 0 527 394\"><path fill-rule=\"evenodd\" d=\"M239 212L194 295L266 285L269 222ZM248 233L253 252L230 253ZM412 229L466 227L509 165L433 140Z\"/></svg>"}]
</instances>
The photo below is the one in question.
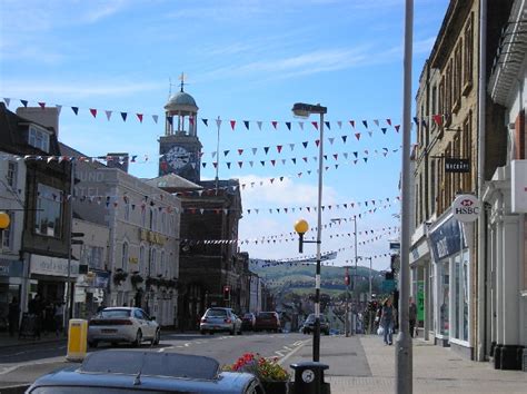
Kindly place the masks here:
<instances>
[{"instance_id":1,"label":"white car on the road beside the yellow bollard","mask_svg":"<svg viewBox=\"0 0 527 394\"><path fill-rule=\"evenodd\" d=\"M140 346L143 341L159 343L161 331L153 317L135 307L105 308L88 325L88 346L97 347L99 342L130 342Z\"/></svg>"}]
</instances>

